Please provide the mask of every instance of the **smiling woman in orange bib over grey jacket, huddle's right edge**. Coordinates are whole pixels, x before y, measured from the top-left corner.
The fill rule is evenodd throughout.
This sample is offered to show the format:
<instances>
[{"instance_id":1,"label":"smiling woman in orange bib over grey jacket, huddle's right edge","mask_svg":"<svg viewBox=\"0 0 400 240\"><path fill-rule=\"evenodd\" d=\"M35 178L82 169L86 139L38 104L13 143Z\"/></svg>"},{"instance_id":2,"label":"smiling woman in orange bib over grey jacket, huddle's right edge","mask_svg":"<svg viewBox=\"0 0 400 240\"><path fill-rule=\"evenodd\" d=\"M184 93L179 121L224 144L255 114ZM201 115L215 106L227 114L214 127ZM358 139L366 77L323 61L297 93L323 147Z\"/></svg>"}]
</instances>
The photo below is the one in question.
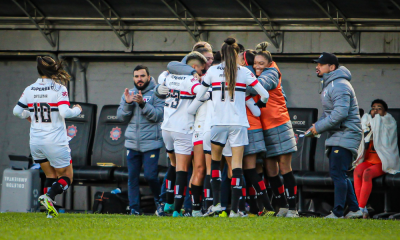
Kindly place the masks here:
<instances>
[{"instance_id":1,"label":"smiling woman in orange bib over grey jacket, huddle's right edge","mask_svg":"<svg viewBox=\"0 0 400 240\"><path fill-rule=\"evenodd\" d=\"M253 65L258 81L270 95L267 106L261 109L260 118L267 149L264 166L270 186L280 206L276 216L298 217L297 186L291 167L292 153L297 151L296 140L282 90L282 74L278 65L272 60L271 53L266 51L267 46L267 42L257 45L256 50L260 51L257 52ZM254 91L253 94L255 94ZM279 177L279 171L285 186Z\"/></svg>"}]
</instances>

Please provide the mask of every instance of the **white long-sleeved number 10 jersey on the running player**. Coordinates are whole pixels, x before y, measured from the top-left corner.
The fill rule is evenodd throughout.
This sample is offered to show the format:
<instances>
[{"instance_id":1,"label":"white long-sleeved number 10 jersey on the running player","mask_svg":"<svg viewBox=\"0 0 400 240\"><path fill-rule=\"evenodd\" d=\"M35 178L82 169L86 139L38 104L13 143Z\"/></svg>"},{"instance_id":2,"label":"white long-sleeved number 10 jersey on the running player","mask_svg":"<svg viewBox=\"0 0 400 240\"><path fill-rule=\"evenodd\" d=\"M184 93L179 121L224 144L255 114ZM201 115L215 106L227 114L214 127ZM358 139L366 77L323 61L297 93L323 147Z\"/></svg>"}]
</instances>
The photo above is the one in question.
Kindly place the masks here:
<instances>
[{"instance_id":1,"label":"white long-sleeved number 10 jersey on the running player","mask_svg":"<svg viewBox=\"0 0 400 240\"><path fill-rule=\"evenodd\" d=\"M66 87L54 83L51 79L39 78L24 90L18 106L30 112L31 145L68 144L64 117L59 112L59 106L69 106ZM75 117L79 113L80 109L74 108L68 117Z\"/></svg>"}]
</instances>

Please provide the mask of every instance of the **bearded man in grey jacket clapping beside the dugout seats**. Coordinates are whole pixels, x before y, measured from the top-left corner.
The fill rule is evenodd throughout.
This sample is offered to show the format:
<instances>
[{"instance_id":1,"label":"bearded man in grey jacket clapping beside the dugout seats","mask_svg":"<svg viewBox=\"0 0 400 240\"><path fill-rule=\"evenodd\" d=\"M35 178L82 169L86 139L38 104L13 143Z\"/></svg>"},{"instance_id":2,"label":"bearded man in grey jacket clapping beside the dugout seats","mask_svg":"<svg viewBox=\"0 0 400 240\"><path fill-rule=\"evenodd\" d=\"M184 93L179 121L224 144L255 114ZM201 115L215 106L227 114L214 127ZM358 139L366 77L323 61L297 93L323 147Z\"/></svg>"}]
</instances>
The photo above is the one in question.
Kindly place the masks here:
<instances>
[{"instance_id":1,"label":"bearded man in grey jacket clapping beside the dugout seats","mask_svg":"<svg viewBox=\"0 0 400 240\"><path fill-rule=\"evenodd\" d=\"M164 115L164 100L154 94L156 86L146 66L138 65L133 70L132 89L125 88L117 111L120 121L130 119L125 132L125 147L128 163L128 195L131 215L140 214L139 176L144 168L144 178L150 185L157 207L156 214L164 216L164 206L159 203L161 191L158 180L158 158L163 146L161 122Z\"/></svg>"}]
</instances>

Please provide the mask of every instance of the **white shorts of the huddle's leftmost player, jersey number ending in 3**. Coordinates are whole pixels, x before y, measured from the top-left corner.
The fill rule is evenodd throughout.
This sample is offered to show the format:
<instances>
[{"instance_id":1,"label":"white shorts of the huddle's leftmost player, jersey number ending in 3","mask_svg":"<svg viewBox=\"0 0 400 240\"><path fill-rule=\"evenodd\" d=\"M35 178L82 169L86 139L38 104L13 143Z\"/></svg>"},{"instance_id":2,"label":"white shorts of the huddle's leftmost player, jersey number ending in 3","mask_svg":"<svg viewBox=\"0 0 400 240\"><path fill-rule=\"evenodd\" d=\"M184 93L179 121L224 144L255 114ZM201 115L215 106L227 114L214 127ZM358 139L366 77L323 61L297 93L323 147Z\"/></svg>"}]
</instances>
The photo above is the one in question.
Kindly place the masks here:
<instances>
[{"instance_id":1,"label":"white shorts of the huddle's leftmost player, jersey number ending in 3","mask_svg":"<svg viewBox=\"0 0 400 240\"><path fill-rule=\"evenodd\" d=\"M168 153L192 155L192 133L184 134L162 130L165 148Z\"/></svg>"}]
</instances>

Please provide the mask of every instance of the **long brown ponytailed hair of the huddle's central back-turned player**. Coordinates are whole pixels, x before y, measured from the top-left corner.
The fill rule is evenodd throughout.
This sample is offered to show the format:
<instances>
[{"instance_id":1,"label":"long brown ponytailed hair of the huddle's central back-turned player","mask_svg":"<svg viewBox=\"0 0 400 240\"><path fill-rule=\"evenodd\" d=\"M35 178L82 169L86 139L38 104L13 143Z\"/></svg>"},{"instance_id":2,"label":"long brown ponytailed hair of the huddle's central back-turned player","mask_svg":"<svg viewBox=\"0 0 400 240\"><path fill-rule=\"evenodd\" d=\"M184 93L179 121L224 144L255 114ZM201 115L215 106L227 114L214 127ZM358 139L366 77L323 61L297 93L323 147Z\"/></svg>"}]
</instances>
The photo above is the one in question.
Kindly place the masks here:
<instances>
[{"instance_id":1,"label":"long brown ponytailed hair of the huddle's central back-turned player","mask_svg":"<svg viewBox=\"0 0 400 240\"><path fill-rule=\"evenodd\" d=\"M228 83L228 91L230 97L233 97L236 87L236 77L238 70L238 53L239 46L236 39L227 38L222 44L221 55L222 60L225 61L224 75L225 81Z\"/></svg>"}]
</instances>

